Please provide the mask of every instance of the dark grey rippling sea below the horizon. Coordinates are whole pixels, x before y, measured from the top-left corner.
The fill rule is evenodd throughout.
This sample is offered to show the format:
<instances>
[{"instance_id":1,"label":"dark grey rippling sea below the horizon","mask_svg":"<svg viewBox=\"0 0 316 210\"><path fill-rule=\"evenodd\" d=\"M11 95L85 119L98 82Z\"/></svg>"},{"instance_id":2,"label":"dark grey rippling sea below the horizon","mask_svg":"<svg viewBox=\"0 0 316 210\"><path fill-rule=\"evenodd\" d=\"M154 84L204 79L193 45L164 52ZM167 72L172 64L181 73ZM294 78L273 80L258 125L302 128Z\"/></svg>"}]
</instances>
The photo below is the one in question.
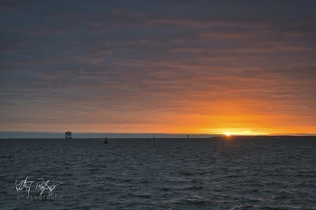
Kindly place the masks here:
<instances>
[{"instance_id":1,"label":"dark grey rippling sea below the horizon","mask_svg":"<svg viewBox=\"0 0 316 210\"><path fill-rule=\"evenodd\" d=\"M316 209L316 138L0 140L0 209Z\"/></svg>"}]
</instances>

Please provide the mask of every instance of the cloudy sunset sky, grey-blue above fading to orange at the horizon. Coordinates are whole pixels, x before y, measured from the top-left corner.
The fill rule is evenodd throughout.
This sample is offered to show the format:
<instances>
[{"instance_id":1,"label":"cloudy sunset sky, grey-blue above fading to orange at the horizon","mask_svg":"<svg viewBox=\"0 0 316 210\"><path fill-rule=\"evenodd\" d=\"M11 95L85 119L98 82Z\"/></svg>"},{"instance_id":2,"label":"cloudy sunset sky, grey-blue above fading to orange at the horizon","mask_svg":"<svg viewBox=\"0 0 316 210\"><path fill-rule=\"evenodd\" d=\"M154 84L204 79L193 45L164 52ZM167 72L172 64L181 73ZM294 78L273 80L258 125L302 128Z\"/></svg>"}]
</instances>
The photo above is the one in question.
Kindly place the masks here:
<instances>
[{"instance_id":1,"label":"cloudy sunset sky, grey-blue above fading to orange at the horizon","mask_svg":"<svg viewBox=\"0 0 316 210\"><path fill-rule=\"evenodd\" d=\"M0 132L316 133L316 1L0 0Z\"/></svg>"}]
</instances>

